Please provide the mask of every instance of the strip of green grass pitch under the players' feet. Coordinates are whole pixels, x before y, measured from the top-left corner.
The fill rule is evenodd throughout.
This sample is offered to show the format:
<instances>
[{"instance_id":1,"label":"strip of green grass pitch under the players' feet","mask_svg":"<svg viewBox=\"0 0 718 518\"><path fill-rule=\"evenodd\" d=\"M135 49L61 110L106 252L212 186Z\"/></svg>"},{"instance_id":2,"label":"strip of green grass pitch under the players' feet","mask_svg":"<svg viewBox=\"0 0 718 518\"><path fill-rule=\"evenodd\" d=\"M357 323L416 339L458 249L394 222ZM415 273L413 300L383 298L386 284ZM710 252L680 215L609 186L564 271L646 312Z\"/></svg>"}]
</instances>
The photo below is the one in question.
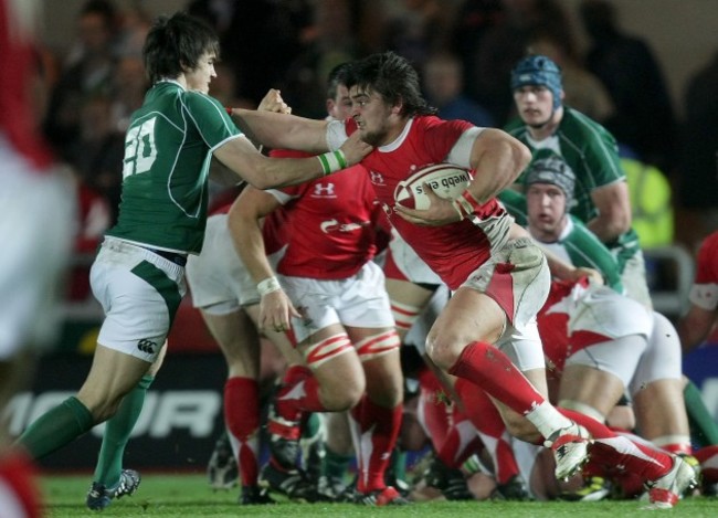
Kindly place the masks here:
<instances>
[{"instance_id":1,"label":"strip of green grass pitch under the players' feet","mask_svg":"<svg viewBox=\"0 0 718 518\"><path fill-rule=\"evenodd\" d=\"M85 495L92 476L45 476L41 484L49 518L98 517L85 507ZM405 507L361 507L352 504L295 504L279 500L273 506L240 506L239 489L213 493L201 475L145 475L137 493L113 501L102 518L146 517L499 517L555 518L561 516L624 517L641 516L640 501L599 503L504 503L504 501L422 501ZM278 497L277 497L278 499ZM689 517L718 516L718 498L695 497L682 500L668 514Z\"/></svg>"}]
</instances>

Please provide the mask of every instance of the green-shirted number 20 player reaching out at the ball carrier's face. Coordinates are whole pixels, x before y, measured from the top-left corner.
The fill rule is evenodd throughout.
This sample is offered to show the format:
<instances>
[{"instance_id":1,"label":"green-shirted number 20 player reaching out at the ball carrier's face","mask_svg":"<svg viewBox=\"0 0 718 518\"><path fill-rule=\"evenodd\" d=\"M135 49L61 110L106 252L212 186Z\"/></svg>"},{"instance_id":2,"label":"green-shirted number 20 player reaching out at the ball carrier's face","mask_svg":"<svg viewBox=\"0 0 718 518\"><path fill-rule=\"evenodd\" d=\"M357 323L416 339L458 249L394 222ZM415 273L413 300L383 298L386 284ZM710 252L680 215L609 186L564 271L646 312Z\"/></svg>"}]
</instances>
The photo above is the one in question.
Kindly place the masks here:
<instances>
[{"instance_id":1,"label":"green-shirted number 20 player reaching out at the ball carrier's face","mask_svg":"<svg viewBox=\"0 0 718 518\"><path fill-rule=\"evenodd\" d=\"M202 249L212 157L236 173L235 182L266 189L338 171L371 149L356 136L318 157L272 159L258 152L208 95L219 59L217 34L184 13L158 18L142 54L152 86L126 134L118 222L91 271L105 311L93 364L77 394L19 438L40 458L116 415L103 445L115 453L103 451L87 495L92 509L133 494L139 484L137 472L118 466L187 290L187 256ZM278 92L268 95L277 110L287 110Z\"/></svg>"}]
</instances>

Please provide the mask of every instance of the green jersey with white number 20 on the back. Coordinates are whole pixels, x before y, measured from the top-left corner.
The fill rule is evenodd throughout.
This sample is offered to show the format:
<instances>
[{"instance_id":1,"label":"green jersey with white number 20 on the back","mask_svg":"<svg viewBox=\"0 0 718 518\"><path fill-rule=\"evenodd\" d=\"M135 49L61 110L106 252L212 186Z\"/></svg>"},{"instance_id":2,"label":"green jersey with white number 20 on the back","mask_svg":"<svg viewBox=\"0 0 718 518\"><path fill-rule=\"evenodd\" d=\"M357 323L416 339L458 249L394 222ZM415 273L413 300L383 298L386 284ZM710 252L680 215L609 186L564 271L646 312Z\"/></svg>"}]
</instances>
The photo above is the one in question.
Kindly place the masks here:
<instances>
[{"instance_id":1,"label":"green jersey with white number 20 on the back","mask_svg":"<svg viewBox=\"0 0 718 518\"><path fill-rule=\"evenodd\" d=\"M217 99L157 83L127 129L119 216L107 235L199 253L212 151L241 135Z\"/></svg>"}]
</instances>

